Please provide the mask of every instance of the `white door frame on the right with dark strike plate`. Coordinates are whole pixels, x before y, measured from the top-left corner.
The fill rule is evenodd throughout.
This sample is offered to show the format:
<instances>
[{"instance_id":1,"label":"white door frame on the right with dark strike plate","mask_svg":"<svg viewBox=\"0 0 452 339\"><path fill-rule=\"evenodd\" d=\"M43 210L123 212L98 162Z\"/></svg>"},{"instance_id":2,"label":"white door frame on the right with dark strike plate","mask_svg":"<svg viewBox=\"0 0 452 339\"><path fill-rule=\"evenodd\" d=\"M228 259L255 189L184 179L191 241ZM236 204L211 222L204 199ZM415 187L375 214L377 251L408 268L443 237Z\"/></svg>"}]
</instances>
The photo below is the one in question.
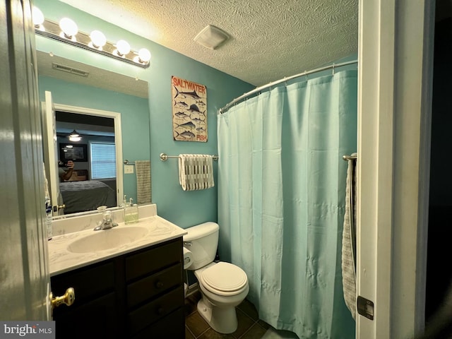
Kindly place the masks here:
<instances>
[{"instance_id":1,"label":"white door frame on the right with dark strike plate","mask_svg":"<svg viewBox=\"0 0 452 339\"><path fill-rule=\"evenodd\" d=\"M424 331L434 1L359 1L356 338Z\"/></svg>"}]
</instances>

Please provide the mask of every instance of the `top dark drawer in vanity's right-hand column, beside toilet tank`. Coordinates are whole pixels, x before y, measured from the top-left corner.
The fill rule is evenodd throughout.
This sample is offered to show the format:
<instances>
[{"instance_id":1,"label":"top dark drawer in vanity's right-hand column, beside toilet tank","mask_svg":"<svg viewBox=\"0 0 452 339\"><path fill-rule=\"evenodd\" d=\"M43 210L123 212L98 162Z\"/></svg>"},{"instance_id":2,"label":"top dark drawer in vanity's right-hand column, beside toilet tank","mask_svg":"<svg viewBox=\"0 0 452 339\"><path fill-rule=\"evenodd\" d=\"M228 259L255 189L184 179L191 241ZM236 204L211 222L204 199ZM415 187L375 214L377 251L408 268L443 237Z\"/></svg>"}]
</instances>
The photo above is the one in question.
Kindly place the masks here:
<instances>
[{"instance_id":1,"label":"top dark drawer in vanity's right-hand column, beside toilet tank","mask_svg":"<svg viewBox=\"0 0 452 339\"><path fill-rule=\"evenodd\" d=\"M126 257L126 280L182 262L182 237Z\"/></svg>"}]
</instances>

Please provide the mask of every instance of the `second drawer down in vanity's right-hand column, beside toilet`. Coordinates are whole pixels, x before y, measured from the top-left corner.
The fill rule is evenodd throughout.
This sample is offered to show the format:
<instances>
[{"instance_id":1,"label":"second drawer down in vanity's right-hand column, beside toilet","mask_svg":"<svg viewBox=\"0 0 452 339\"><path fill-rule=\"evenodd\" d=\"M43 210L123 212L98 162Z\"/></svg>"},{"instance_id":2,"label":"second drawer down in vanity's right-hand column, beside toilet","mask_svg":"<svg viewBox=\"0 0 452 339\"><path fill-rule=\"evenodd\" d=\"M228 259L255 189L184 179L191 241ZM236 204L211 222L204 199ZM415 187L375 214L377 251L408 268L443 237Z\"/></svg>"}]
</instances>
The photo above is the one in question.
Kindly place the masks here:
<instances>
[{"instance_id":1,"label":"second drawer down in vanity's right-hand column, beside toilet","mask_svg":"<svg viewBox=\"0 0 452 339\"><path fill-rule=\"evenodd\" d=\"M134 307L177 285L182 285L182 265L180 263L127 286L127 306Z\"/></svg>"}]
</instances>

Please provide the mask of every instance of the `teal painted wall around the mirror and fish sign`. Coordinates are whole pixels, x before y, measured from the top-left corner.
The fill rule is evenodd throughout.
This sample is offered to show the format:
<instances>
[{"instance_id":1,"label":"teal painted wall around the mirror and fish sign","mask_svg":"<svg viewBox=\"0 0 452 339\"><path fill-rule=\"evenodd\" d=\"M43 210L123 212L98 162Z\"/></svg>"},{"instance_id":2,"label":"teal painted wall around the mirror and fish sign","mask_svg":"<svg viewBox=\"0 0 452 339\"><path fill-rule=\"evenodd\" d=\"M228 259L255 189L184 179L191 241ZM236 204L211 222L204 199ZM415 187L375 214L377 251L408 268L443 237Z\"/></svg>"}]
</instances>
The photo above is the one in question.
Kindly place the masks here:
<instances>
[{"instance_id":1,"label":"teal painted wall around the mirror and fish sign","mask_svg":"<svg viewBox=\"0 0 452 339\"><path fill-rule=\"evenodd\" d=\"M180 227L190 227L201 222L217 221L217 189L205 191L182 191L179 185L177 160L160 161L160 153L178 155L180 153L217 153L217 119L218 109L243 93L253 89L254 86L237 78L228 76L205 64L184 57L182 54L162 47L143 37L134 35L116 25L107 23L99 18L78 11L67 4L57 0L35 0L44 16L58 22L64 16L76 21L78 29L90 32L98 29L105 33L107 40L114 42L124 39L131 44L132 49L145 47L150 50L152 59L148 69L141 69L112 58L72 47L61 42L36 37L36 47L42 52L53 52L66 59L90 64L101 69L108 69L133 78L148 81L149 85L149 112L150 112L150 162L152 177L153 202L157 204L157 213ZM221 53L221 50L211 51L212 57ZM172 138L172 95L171 76L178 76L189 81L201 83L207 87L208 95L208 142L174 141ZM69 102L59 102L71 105ZM114 109L112 109L114 110ZM131 122L131 128L136 124ZM124 129L124 120L123 129ZM123 131L124 138L124 131ZM135 160L132 149L139 147L139 142L131 145L124 143L124 159ZM128 153L126 153L126 150ZM137 155L138 157L138 155ZM214 165L216 173L216 165ZM217 178L215 177L215 180Z\"/></svg>"}]
</instances>

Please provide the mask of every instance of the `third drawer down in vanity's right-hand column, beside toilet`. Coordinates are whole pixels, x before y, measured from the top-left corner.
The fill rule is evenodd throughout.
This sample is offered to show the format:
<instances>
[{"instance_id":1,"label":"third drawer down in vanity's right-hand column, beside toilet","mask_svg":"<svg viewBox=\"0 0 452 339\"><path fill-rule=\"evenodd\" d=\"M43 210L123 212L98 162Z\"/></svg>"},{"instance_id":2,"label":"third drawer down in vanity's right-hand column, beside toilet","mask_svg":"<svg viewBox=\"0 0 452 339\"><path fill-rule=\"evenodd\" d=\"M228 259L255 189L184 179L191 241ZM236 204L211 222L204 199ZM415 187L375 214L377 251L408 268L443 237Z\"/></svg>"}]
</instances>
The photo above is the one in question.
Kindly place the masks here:
<instances>
[{"instance_id":1,"label":"third drawer down in vanity's right-hand column, beside toilet","mask_svg":"<svg viewBox=\"0 0 452 339\"><path fill-rule=\"evenodd\" d=\"M149 304L139 307L128 315L129 334L133 335L138 331L150 326L150 324L162 319L184 305L184 287L180 286L176 290L155 299Z\"/></svg>"}]
</instances>

